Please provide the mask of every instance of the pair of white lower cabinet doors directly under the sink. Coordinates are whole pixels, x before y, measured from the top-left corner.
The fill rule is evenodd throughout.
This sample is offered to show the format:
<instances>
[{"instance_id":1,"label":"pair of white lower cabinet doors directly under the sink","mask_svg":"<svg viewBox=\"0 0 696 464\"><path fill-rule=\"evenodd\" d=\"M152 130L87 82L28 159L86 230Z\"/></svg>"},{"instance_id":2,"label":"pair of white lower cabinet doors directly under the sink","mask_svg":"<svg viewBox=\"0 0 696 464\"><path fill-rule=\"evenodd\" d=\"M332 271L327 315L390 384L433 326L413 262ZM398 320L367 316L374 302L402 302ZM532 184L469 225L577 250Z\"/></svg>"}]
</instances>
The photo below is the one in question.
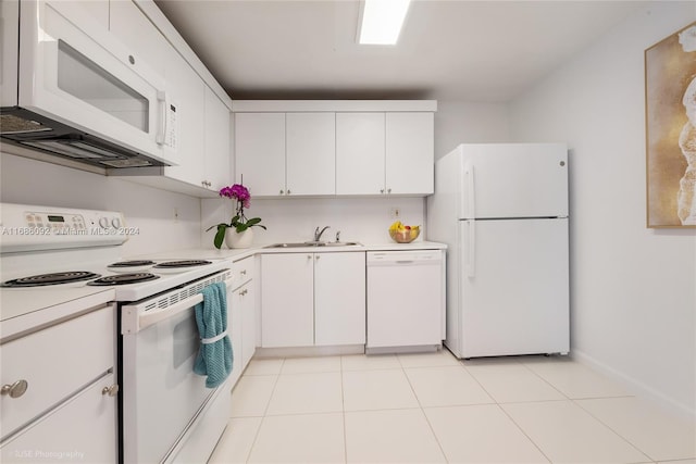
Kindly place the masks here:
<instances>
[{"instance_id":1,"label":"pair of white lower cabinet doors directly under the sink","mask_svg":"<svg viewBox=\"0 0 696 464\"><path fill-rule=\"evenodd\" d=\"M364 252L261 255L261 347L364 341Z\"/></svg>"}]
</instances>

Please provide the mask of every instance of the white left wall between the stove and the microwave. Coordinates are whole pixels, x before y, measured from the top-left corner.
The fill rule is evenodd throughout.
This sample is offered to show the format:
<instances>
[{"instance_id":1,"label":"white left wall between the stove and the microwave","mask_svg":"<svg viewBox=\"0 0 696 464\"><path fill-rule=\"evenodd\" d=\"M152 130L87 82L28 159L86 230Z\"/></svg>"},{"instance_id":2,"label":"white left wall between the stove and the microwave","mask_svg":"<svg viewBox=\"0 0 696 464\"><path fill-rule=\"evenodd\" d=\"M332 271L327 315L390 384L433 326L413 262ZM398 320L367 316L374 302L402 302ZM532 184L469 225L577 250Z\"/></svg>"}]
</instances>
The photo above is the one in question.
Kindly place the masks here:
<instances>
[{"instance_id":1,"label":"white left wall between the stove and the microwave","mask_svg":"<svg viewBox=\"0 0 696 464\"><path fill-rule=\"evenodd\" d=\"M200 244L197 198L7 153L0 153L0 183L4 203L122 211L127 225L139 228L124 256Z\"/></svg>"}]
</instances>

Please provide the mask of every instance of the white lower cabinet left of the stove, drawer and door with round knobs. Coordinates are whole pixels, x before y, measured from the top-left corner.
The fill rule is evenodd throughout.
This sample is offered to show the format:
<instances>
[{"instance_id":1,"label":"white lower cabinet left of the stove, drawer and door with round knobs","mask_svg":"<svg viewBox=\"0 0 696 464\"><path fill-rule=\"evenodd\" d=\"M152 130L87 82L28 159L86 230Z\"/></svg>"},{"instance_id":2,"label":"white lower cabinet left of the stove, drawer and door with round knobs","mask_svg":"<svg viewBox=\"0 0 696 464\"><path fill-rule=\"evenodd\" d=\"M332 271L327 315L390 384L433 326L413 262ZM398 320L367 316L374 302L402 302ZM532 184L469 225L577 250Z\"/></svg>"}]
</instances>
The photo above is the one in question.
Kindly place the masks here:
<instances>
[{"instance_id":1,"label":"white lower cabinet left of the stove, drawer and door with round knobs","mask_svg":"<svg viewBox=\"0 0 696 464\"><path fill-rule=\"evenodd\" d=\"M116 462L114 337L104 306L0 346L0 462Z\"/></svg>"}]
</instances>

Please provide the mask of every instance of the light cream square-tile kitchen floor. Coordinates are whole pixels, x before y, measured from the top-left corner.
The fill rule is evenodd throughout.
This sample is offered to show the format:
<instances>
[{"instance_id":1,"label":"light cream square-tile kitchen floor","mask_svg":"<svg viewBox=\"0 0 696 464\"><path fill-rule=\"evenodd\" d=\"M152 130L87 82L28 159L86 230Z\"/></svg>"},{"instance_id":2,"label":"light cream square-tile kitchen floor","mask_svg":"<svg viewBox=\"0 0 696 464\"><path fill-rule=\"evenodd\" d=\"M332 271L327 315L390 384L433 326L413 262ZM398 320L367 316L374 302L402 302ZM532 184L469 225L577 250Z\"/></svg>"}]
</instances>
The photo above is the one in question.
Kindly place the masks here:
<instances>
[{"instance_id":1,"label":"light cream square-tile kitchen floor","mask_svg":"<svg viewBox=\"0 0 696 464\"><path fill-rule=\"evenodd\" d=\"M252 360L210 463L696 464L696 424L568 358Z\"/></svg>"}]
</instances>

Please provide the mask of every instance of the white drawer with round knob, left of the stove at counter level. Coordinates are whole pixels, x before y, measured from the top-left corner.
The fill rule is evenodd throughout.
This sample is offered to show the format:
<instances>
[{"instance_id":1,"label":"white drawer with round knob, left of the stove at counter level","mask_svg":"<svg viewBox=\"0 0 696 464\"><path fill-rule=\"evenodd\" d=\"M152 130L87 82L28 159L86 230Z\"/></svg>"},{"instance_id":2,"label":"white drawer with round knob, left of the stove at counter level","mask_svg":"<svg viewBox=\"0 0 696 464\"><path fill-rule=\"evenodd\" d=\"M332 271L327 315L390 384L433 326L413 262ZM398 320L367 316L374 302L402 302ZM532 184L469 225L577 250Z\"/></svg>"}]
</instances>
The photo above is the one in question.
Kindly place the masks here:
<instances>
[{"instance_id":1,"label":"white drawer with round knob, left of the stove at counter level","mask_svg":"<svg viewBox=\"0 0 696 464\"><path fill-rule=\"evenodd\" d=\"M0 346L0 385L26 380L24 394L0 397L2 436L78 391L114 364L110 306Z\"/></svg>"}]
</instances>

